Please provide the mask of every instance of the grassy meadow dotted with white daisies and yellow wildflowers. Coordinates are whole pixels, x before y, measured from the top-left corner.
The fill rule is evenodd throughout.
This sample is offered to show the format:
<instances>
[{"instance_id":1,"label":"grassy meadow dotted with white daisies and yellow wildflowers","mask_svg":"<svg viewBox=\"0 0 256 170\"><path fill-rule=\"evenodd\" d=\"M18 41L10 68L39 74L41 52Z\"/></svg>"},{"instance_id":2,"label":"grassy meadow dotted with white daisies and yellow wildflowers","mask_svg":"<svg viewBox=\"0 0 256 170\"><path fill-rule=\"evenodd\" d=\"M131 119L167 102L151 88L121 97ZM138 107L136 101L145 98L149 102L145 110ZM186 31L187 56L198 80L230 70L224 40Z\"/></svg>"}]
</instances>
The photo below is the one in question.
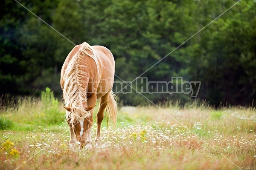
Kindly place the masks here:
<instances>
[{"instance_id":1,"label":"grassy meadow dotted with white daisies and yellow wildflowers","mask_svg":"<svg viewBox=\"0 0 256 170\"><path fill-rule=\"evenodd\" d=\"M256 170L255 107L119 107L116 127L104 119L100 146L69 150L63 103L50 89L1 102L1 170Z\"/></svg>"}]
</instances>

